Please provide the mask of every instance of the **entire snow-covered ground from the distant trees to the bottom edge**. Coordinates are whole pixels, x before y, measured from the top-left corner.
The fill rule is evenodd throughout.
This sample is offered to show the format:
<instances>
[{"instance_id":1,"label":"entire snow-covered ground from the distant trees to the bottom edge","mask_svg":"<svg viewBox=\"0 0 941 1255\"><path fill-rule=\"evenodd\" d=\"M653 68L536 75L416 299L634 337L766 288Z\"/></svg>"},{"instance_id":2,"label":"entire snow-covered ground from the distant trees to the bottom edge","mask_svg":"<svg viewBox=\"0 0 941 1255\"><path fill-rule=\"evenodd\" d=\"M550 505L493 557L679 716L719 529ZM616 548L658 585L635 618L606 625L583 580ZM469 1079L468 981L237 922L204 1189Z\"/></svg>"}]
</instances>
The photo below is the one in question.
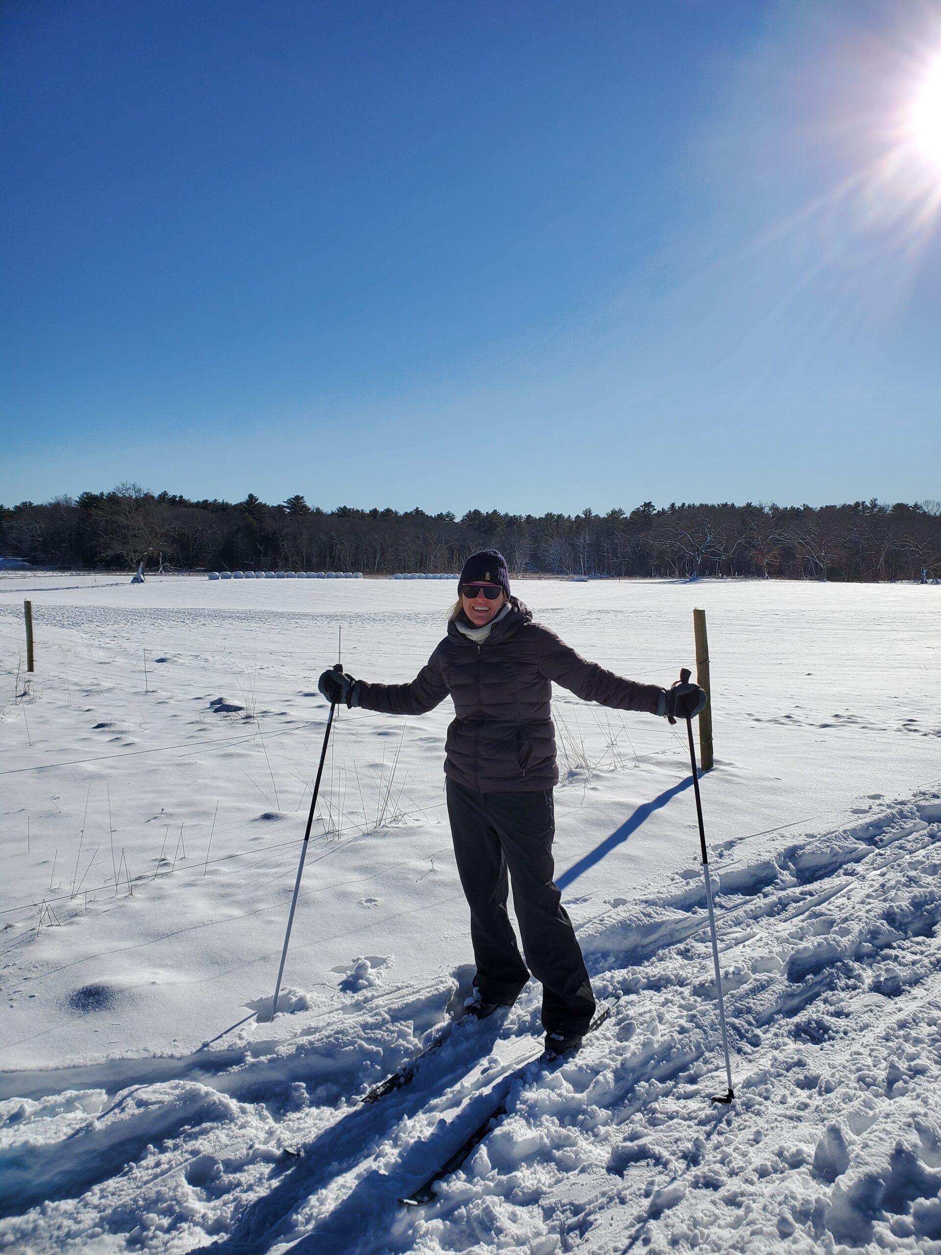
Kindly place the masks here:
<instances>
[{"instance_id":1,"label":"entire snow-covered ground from the distant trees to the bottom edge","mask_svg":"<svg viewBox=\"0 0 941 1255\"><path fill-rule=\"evenodd\" d=\"M363 1104L470 970L450 704L341 713L271 1022L316 676L341 624L349 671L412 678L453 587L8 574L0 1250L941 1252L941 589L514 591L586 656L662 684L706 607L734 1104L709 1102L724 1072L681 729L557 692L557 880L597 993L620 995L607 1023L519 1073L531 985ZM36 671L18 697L24 596ZM438 1197L401 1206L501 1098Z\"/></svg>"}]
</instances>

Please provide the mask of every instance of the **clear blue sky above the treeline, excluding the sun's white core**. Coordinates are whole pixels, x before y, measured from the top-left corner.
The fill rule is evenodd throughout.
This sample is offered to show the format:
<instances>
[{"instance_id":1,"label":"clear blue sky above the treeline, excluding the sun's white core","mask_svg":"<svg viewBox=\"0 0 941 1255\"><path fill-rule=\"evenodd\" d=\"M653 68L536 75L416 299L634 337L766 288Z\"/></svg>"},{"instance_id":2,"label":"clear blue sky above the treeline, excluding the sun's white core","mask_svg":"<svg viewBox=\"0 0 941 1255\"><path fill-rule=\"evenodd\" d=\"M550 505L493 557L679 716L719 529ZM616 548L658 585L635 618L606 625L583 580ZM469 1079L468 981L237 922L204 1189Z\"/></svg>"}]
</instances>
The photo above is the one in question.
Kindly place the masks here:
<instances>
[{"instance_id":1,"label":"clear blue sky above the treeline, excluding the sun's white core","mask_svg":"<svg viewBox=\"0 0 941 1255\"><path fill-rule=\"evenodd\" d=\"M0 501L941 497L940 53L891 0L6 0Z\"/></svg>"}]
</instances>

